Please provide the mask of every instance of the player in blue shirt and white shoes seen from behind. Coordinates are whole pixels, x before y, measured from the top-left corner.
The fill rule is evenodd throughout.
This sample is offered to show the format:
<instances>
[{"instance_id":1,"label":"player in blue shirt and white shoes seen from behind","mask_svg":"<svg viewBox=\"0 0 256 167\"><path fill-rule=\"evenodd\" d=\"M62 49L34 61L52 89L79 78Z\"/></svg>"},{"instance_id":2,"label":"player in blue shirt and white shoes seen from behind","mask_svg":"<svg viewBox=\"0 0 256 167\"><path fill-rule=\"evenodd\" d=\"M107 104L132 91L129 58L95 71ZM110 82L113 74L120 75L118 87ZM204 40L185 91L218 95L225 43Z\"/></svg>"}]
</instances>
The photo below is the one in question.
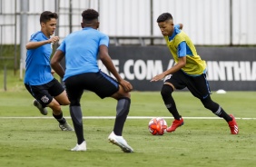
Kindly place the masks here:
<instances>
[{"instance_id":1,"label":"player in blue shirt and white shoes seen from behind","mask_svg":"<svg viewBox=\"0 0 256 167\"><path fill-rule=\"evenodd\" d=\"M84 90L96 93L102 99L113 97L117 100L113 132L108 140L119 146L123 152L133 152L133 148L123 139L123 125L129 113L133 89L131 83L123 80L117 73L108 54L109 37L99 32L99 13L94 9L82 13L82 30L69 34L57 48L51 65L64 78L66 92L70 100L70 114L74 123L77 144L71 151L86 151L83 116L80 100ZM97 56L115 79L104 74L98 67ZM60 62L65 57L65 72Z\"/></svg>"}]
</instances>

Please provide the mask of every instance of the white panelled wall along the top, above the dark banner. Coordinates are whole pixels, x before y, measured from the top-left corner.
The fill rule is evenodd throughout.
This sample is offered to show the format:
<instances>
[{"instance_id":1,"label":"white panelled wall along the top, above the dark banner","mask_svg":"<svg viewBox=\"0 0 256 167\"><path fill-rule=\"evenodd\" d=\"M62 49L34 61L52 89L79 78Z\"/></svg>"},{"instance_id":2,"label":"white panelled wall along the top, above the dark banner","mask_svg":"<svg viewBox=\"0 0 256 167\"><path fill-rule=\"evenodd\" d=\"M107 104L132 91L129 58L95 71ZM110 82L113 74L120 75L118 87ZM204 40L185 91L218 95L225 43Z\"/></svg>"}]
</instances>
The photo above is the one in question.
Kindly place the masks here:
<instances>
[{"instance_id":1,"label":"white panelled wall along the top, above the dark banner","mask_svg":"<svg viewBox=\"0 0 256 167\"><path fill-rule=\"evenodd\" d=\"M27 11L21 5L26 5ZM44 10L59 14L58 35L64 37L80 29L81 13L86 8L100 12L100 30L110 36L162 36L156 19L170 12L174 23L184 25L194 44L256 44L255 0L1 0L0 44L15 44L15 37L19 44L22 35L29 39L40 30L39 15ZM28 17L26 34L20 33L20 15Z\"/></svg>"}]
</instances>

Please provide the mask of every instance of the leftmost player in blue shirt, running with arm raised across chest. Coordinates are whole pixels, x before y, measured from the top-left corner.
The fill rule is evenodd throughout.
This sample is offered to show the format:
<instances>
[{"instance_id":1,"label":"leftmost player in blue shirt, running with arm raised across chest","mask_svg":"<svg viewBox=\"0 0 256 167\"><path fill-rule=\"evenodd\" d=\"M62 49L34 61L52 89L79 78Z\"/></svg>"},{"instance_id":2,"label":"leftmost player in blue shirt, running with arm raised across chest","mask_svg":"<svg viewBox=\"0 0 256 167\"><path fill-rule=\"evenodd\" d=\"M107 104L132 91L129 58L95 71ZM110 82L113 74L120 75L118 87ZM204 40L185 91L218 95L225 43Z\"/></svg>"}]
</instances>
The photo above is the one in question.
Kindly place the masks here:
<instances>
[{"instance_id":1,"label":"leftmost player in blue shirt, running with arm raised across chest","mask_svg":"<svg viewBox=\"0 0 256 167\"><path fill-rule=\"evenodd\" d=\"M62 84L54 79L54 71L50 66L52 44L59 41L58 36L51 37L56 28L57 18L57 14L49 11L44 11L40 15L41 31L32 34L26 44L24 83L27 91L35 98L34 106L42 114L46 115L45 107L50 107L61 130L74 131L64 119L61 109L61 105L68 105L70 102Z\"/></svg>"}]
</instances>

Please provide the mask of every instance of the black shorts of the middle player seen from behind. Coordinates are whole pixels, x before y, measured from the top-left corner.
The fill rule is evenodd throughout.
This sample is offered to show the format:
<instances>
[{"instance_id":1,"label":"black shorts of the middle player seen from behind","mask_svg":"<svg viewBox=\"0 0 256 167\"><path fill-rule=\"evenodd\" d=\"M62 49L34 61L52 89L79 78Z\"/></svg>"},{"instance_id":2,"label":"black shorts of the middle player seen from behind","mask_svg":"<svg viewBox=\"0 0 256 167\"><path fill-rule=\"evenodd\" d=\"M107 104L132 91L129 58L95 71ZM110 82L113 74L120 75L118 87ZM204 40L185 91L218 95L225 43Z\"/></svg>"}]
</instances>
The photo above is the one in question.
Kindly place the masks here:
<instances>
[{"instance_id":1,"label":"black shorts of the middle player seen from behind","mask_svg":"<svg viewBox=\"0 0 256 167\"><path fill-rule=\"evenodd\" d=\"M71 104L80 103L84 90L92 91L102 99L113 95L119 90L119 83L102 71L76 74L68 77L64 84Z\"/></svg>"}]
</instances>

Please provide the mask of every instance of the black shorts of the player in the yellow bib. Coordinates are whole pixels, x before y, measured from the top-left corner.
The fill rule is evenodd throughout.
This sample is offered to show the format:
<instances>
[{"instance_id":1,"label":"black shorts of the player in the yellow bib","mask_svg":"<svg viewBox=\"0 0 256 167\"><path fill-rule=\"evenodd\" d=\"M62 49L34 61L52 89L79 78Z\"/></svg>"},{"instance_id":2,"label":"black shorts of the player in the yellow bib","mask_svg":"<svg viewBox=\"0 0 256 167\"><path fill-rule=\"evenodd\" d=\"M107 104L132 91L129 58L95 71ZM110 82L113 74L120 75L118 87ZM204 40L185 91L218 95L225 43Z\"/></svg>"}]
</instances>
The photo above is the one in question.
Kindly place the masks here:
<instances>
[{"instance_id":1,"label":"black shorts of the player in the yellow bib","mask_svg":"<svg viewBox=\"0 0 256 167\"><path fill-rule=\"evenodd\" d=\"M199 99L204 99L211 94L210 86L206 79L206 74L190 76L184 74L182 70L179 70L170 76L168 75L164 83L172 83L172 85L179 90L187 87L193 96Z\"/></svg>"}]
</instances>

